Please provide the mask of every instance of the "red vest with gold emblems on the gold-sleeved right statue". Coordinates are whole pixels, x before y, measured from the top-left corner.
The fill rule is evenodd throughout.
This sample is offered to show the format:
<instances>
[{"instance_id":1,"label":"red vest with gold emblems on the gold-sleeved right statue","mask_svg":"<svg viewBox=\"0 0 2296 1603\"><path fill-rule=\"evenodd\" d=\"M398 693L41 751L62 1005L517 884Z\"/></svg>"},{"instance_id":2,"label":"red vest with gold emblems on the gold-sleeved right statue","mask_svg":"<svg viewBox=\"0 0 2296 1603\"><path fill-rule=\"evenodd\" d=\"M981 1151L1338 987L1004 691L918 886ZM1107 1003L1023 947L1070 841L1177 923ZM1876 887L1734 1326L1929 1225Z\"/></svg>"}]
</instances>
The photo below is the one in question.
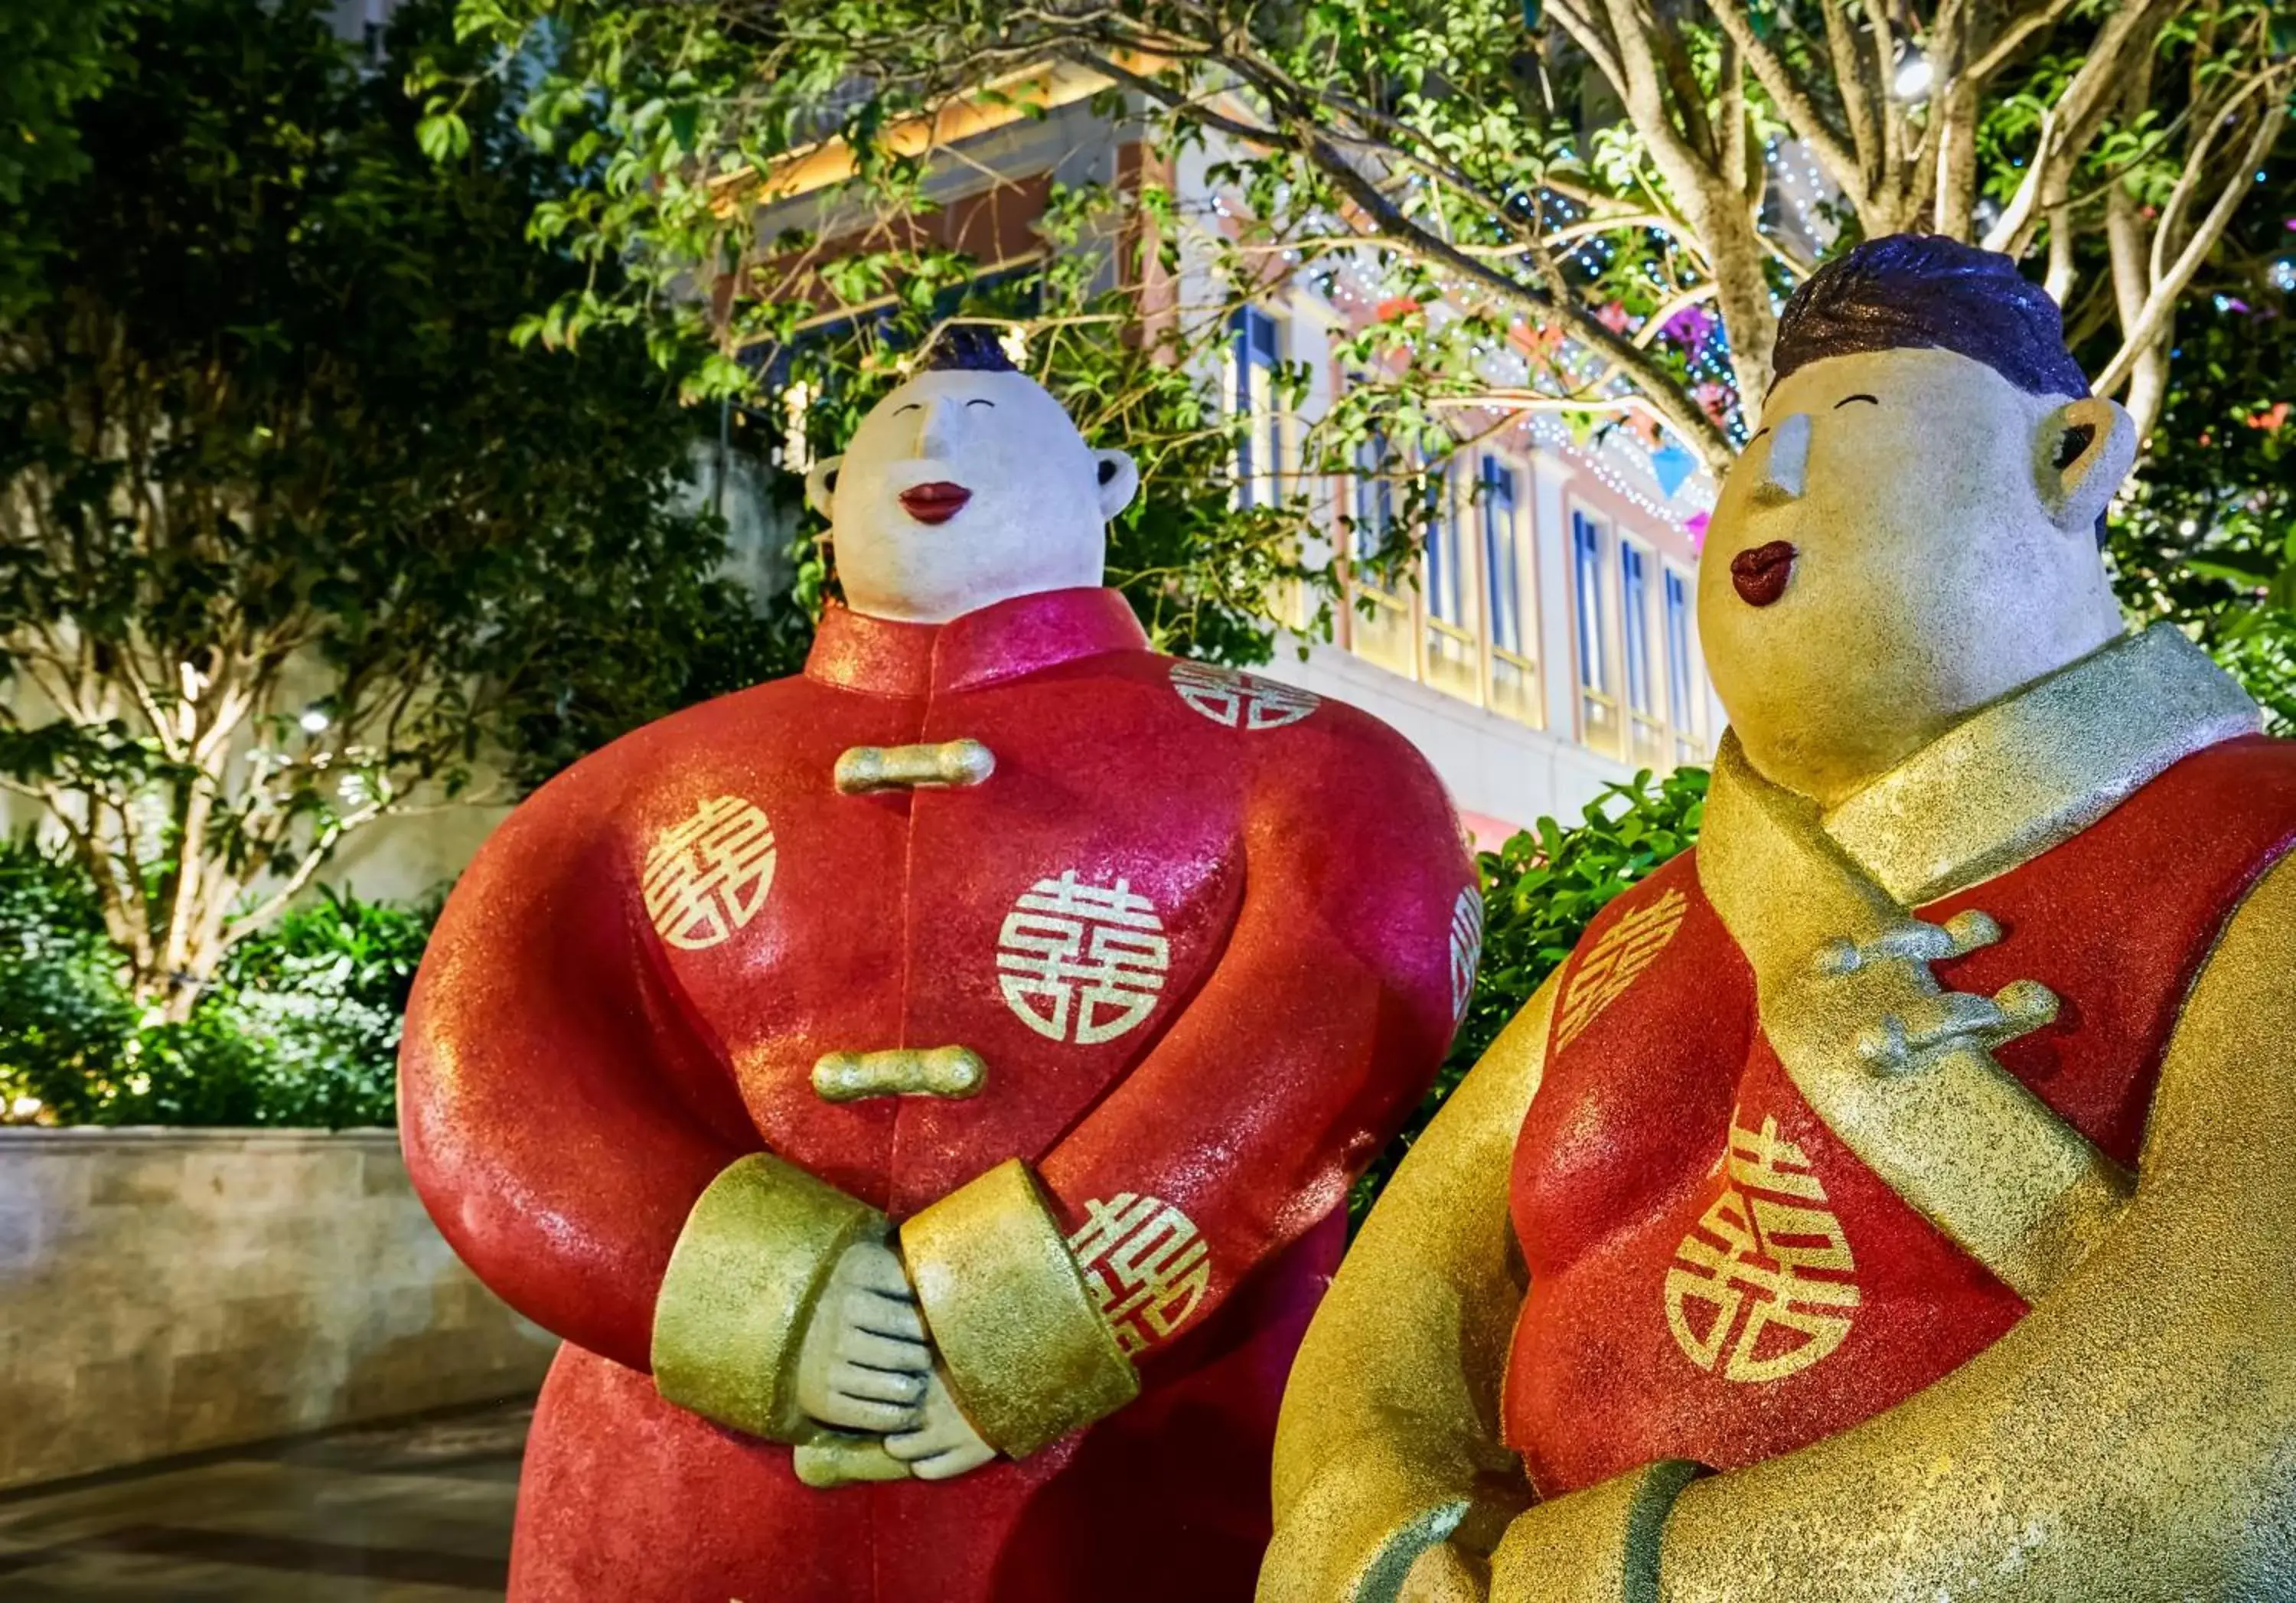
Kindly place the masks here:
<instances>
[{"instance_id":1,"label":"red vest with gold emblems on the gold-sleeved right statue","mask_svg":"<svg viewBox=\"0 0 2296 1603\"><path fill-rule=\"evenodd\" d=\"M2193 976L2291 843L2296 744L2227 739L1922 907L2002 928L1931 967L1961 992L2048 985L2055 1022L1995 1059L2135 1169ZM1791 1451L1929 1387L2025 1314L1800 1095L1694 854L1605 907L1564 969L1511 1215L1531 1291L1504 1428L1541 1497L1660 1458L1731 1470Z\"/></svg>"}]
</instances>

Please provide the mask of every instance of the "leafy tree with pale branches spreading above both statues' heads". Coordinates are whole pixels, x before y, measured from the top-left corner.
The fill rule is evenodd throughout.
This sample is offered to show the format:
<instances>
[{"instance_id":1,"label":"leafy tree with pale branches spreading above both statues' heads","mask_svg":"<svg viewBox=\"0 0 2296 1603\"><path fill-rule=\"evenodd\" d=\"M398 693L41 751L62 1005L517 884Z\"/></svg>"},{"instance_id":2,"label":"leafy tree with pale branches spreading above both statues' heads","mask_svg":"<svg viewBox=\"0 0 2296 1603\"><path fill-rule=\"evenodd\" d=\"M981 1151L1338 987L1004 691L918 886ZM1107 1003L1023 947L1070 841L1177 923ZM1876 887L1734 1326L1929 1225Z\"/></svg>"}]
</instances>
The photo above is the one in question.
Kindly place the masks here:
<instances>
[{"instance_id":1,"label":"leafy tree with pale branches spreading above both statues' heads","mask_svg":"<svg viewBox=\"0 0 2296 1603\"><path fill-rule=\"evenodd\" d=\"M1366 457L1407 480L1368 553L1387 570L1424 528L1421 482L1525 411L1671 432L1724 466L1768 388L1777 305L1860 234L2030 257L2149 432L2177 308L2296 85L2296 21L2264 0L461 0L459 18L498 62L549 41L526 126L583 177L537 232L629 269L530 331L680 331L712 351L693 370L709 393L785 372L808 322L976 271L934 232L928 179L969 131L1093 94L1148 140L1093 200L1130 301L1091 310L1148 333L1116 351L1166 370L1148 393L1180 402L1173 367L1199 390L1217 377L1228 310L1277 276L1378 308L1336 342L1355 379L1300 441L1300 487ZM416 73L441 138L471 85ZM1194 149L1219 216L1164 181ZM1159 429L1233 446L1242 423L1201 393L1107 418L1107 393L1141 390L1107 370L1077 386L1088 432L1120 423L1150 455ZM1148 611L1203 572L1286 572L1313 629L1334 576L1311 501L1295 487L1249 519L1201 503L1164 526L1203 563L1120 579ZM1265 652L1272 615L1235 590L1217 615L1240 661Z\"/></svg>"}]
</instances>

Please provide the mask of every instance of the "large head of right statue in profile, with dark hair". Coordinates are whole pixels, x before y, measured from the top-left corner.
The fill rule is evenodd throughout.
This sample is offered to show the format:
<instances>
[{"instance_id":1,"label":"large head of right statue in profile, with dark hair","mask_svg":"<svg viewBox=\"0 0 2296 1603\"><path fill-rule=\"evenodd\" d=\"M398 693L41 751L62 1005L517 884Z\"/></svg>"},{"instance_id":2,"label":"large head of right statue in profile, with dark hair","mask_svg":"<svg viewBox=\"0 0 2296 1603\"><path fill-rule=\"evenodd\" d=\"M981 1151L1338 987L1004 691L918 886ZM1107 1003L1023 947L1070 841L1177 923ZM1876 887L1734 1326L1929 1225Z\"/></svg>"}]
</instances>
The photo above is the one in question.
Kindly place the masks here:
<instances>
[{"instance_id":1,"label":"large head of right statue in profile, with dark hair","mask_svg":"<svg viewBox=\"0 0 2296 1603\"><path fill-rule=\"evenodd\" d=\"M1812 273L1775 370L1706 535L1699 632L1754 767L1830 804L2119 634L2099 544L2138 441L2057 303L1942 237Z\"/></svg>"}]
</instances>

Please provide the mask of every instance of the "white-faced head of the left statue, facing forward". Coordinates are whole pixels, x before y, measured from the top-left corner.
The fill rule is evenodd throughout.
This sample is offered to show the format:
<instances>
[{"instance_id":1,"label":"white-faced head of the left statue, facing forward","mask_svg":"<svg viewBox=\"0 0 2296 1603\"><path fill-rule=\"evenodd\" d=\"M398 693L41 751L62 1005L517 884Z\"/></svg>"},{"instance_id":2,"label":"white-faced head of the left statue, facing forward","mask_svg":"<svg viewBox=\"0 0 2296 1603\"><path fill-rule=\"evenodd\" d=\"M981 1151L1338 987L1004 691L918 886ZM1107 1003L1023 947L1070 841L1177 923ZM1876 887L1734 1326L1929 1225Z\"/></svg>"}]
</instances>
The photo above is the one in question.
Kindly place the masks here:
<instances>
[{"instance_id":1,"label":"white-faced head of the left statue, facing forward","mask_svg":"<svg viewBox=\"0 0 2296 1603\"><path fill-rule=\"evenodd\" d=\"M806 475L845 604L902 622L1097 586L1107 521L1137 489L1132 457L1091 450L1061 402L974 324L948 328L861 418L845 455Z\"/></svg>"}]
</instances>

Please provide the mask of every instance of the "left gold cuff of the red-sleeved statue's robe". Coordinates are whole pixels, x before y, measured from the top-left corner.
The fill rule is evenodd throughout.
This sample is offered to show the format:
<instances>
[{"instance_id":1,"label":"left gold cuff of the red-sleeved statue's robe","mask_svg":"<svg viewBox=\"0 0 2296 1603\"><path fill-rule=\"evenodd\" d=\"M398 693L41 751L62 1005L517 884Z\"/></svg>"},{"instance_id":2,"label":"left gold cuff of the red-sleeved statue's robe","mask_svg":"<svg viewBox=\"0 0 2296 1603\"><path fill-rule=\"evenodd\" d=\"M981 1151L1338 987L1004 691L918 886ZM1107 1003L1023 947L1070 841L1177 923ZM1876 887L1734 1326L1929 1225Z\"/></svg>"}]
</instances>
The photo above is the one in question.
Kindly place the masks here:
<instances>
[{"instance_id":1,"label":"left gold cuff of the red-sleeved statue's robe","mask_svg":"<svg viewBox=\"0 0 2296 1603\"><path fill-rule=\"evenodd\" d=\"M886 1219L767 1153L728 1164L677 1236L654 1300L654 1389L776 1442L815 1426L797 1408L797 1350L838 1256Z\"/></svg>"}]
</instances>

